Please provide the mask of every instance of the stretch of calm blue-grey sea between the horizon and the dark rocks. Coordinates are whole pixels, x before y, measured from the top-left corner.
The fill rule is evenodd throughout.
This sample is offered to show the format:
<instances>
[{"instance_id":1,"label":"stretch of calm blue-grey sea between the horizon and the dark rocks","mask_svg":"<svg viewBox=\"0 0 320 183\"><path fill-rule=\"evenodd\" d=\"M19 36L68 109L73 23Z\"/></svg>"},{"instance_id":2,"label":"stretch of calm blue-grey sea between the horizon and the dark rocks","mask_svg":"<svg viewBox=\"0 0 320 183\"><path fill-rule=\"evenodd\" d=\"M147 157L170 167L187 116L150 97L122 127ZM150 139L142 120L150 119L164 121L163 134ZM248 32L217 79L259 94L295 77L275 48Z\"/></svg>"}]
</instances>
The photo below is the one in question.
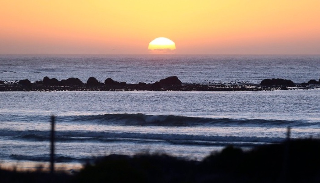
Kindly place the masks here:
<instances>
[{"instance_id":1,"label":"stretch of calm blue-grey sea between the horizon and the dark rocks","mask_svg":"<svg viewBox=\"0 0 320 183\"><path fill-rule=\"evenodd\" d=\"M320 78L320 55L0 55L0 80L95 77L153 83L168 76L182 82L260 83L266 78L295 83Z\"/></svg>"}]
</instances>

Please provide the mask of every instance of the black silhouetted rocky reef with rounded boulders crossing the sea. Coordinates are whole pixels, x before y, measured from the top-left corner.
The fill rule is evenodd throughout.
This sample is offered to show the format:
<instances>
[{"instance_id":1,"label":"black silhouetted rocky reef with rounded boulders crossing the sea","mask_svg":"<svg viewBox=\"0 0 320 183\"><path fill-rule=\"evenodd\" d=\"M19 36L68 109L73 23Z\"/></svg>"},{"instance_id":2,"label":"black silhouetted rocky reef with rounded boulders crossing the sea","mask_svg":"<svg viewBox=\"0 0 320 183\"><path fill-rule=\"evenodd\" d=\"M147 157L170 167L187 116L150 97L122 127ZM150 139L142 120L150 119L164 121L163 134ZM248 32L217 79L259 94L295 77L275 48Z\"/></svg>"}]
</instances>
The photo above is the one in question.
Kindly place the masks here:
<instances>
[{"instance_id":1,"label":"black silhouetted rocky reef with rounded boulders crossing the sea","mask_svg":"<svg viewBox=\"0 0 320 183\"><path fill-rule=\"evenodd\" d=\"M265 90L288 90L288 87L309 89L320 87L320 79L311 79L308 83L295 84L287 79L263 79L260 84L246 82L230 82L228 84L211 83L195 84L182 83L176 76L160 79L154 83L127 84L126 82L114 81L107 78L104 83L90 77L86 83L78 78L68 78L59 81L55 78L44 77L43 80L31 82L28 79L7 82L0 81L0 91L265 91Z\"/></svg>"}]
</instances>

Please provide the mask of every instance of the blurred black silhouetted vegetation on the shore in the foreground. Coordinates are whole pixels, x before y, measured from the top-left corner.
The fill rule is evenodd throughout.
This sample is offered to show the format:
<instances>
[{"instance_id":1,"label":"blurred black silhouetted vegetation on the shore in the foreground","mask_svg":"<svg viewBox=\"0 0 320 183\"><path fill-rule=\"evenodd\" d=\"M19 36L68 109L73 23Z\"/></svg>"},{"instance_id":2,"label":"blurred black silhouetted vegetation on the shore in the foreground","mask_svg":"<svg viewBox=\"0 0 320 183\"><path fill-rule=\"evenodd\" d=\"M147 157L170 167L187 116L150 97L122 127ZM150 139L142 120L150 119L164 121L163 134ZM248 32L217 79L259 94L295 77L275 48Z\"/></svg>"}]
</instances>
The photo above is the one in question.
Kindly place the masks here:
<instances>
[{"instance_id":1,"label":"blurred black silhouetted vegetation on the shore in the foreground","mask_svg":"<svg viewBox=\"0 0 320 183\"><path fill-rule=\"evenodd\" d=\"M203 161L112 154L74 175L1 170L0 182L320 182L320 141L300 139L248 152L229 146Z\"/></svg>"}]
</instances>

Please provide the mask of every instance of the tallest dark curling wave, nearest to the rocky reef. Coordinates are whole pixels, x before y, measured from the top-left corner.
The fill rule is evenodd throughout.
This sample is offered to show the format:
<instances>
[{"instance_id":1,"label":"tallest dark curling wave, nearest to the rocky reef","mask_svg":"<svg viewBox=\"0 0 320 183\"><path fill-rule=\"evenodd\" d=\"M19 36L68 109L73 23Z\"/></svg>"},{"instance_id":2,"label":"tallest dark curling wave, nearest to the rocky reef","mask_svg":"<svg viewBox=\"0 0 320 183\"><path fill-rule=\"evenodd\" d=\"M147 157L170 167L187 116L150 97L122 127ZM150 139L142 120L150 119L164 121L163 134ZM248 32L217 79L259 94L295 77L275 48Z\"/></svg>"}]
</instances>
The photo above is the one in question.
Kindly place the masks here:
<instances>
[{"instance_id":1,"label":"tallest dark curling wave, nearest to the rocky reef","mask_svg":"<svg viewBox=\"0 0 320 183\"><path fill-rule=\"evenodd\" d=\"M147 115L142 113L136 114L100 114L100 115L83 115L83 116L65 116L61 119L68 121L99 122L108 125L139 125L139 126L197 126L197 125L249 125L249 126L310 126L319 123L306 121L287 121L287 120L263 120L263 119L230 119L230 118L203 118L188 117L176 115Z\"/></svg>"}]
</instances>

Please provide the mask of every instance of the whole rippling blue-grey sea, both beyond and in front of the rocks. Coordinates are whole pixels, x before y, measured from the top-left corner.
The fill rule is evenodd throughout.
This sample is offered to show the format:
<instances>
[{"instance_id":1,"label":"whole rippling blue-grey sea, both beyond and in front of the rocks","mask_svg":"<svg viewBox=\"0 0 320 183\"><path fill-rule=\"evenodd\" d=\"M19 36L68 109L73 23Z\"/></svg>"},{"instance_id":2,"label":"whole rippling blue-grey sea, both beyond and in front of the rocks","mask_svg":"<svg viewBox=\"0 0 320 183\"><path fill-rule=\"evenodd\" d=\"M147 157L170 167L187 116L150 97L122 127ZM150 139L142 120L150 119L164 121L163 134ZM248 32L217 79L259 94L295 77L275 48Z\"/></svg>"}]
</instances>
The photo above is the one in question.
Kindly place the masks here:
<instances>
[{"instance_id":1,"label":"whole rippling blue-grey sea, both beyond and in front of the rocks","mask_svg":"<svg viewBox=\"0 0 320 183\"><path fill-rule=\"evenodd\" d=\"M253 83L320 78L320 55L0 55L0 80L93 76L153 83ZM320 138L320 89L259 92L0 92L0 165L79 165L108 154L167 153L201 160L228 145L249 150ZM33 163L33 164L32 164Z\"/></svg>"}]
</instances>

